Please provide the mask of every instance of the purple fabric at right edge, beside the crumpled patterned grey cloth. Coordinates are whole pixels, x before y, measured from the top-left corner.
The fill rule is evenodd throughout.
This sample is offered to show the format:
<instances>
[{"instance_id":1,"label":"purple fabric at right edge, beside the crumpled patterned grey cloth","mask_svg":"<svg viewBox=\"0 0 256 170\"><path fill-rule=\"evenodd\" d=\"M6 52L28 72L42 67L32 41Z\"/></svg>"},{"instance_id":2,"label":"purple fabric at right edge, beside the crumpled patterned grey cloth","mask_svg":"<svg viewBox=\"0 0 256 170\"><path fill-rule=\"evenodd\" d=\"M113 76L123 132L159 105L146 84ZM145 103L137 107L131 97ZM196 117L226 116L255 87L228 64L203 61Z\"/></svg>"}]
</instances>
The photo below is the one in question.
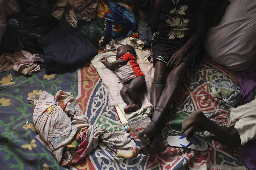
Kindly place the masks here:
<instances>
[{"instance_id":1,"label":"purple fabric at right edge, beside the crumpled patterned grey cloth","mask_svg":"<svg viewBox=\"0 0 256 170\"><path fill-rule=\"evenodd\" d=\"M241 85L241 94L244 98L244 104L248 103L256 91L256 66L250 70L237 73Z\"/></svg>"}]
</instances>

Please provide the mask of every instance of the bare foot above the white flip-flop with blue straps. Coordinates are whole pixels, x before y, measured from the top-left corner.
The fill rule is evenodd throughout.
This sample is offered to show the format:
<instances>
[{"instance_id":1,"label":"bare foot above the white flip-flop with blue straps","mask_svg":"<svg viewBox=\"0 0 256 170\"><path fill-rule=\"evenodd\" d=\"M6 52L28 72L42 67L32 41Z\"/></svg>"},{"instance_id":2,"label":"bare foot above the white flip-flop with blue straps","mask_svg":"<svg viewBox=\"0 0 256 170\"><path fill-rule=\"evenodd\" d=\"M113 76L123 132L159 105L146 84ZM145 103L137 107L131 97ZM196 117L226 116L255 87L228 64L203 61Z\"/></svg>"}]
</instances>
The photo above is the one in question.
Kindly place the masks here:
<instances>
[{"instance_id":1,"label":"bare foot above the white flip-flop with blue straps","mask_svg":"<svg viewBox=\"0 0 256 170\"><path fill-rule=\"evenodd\" d=\"M209 119L203 112L196 110L183 120L181 133L184 133L185 136L188 137L207 121L209 121Z\"/></svg>"}]
</instances>

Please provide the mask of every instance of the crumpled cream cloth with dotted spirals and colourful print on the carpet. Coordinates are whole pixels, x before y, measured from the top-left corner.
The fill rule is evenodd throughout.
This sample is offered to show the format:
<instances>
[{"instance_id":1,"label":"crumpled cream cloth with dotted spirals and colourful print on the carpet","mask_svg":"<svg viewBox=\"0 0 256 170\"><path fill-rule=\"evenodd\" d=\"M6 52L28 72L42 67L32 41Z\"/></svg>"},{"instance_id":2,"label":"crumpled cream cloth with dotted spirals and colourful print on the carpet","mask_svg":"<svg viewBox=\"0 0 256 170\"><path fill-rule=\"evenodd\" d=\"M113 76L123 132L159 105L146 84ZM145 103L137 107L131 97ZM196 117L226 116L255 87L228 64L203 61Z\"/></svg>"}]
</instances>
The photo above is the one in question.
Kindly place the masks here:
<instances>
[{"instance_id":1,"label":"crumpled cream cloth with dotted spirals and colourful print on the carpet","mask_svg":"<svg viewBox=\"0 0 256 170\"><path fill-rule=\"evenodd\" d=\"M33 104L36 131L48 143L60 165L79 162L102 142L117 157L137 155L135 142L126 132L108 132L90 125L77 99L69 92L58 91L54 96L43 91L29 97Z\"/></svg>"}]
</instances>

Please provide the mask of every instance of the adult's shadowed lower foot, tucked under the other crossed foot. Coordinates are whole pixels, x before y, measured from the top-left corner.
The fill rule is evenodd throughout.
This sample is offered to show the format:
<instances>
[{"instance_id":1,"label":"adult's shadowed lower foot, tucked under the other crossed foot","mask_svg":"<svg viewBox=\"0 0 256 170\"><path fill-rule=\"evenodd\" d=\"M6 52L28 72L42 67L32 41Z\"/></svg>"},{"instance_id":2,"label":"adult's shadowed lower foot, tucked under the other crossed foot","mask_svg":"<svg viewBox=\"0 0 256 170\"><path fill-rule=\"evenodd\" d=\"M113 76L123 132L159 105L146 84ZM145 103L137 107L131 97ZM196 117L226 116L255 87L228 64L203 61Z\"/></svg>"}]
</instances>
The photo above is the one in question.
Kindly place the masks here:
<instances>
[{"instance_id":1,"label":"adult's shadowed lower foot, tucked under the other crossed foot","mask_svg":"<svg viewBox=\"0 0 256 170\"><path fill-rule=\"evenodd\" d=\"M138 152L144 155L151 154L151 153L156 153L165 150L165 143L163 143L161 139L161 134L157 133L156 136L154 136L151 140L150 146L147 145L142 145Z\"/></svg>"}]
</instances>

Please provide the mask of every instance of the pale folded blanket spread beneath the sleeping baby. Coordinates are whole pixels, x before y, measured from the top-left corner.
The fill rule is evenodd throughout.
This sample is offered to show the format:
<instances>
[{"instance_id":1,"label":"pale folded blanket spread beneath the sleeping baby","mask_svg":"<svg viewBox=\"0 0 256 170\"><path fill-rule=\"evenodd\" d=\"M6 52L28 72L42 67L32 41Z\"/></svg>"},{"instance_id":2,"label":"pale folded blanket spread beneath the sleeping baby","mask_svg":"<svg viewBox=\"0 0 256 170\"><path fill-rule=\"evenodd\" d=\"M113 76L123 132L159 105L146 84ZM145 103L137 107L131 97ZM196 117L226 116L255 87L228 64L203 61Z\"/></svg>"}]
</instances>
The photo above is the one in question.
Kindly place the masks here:
<instances>
[{"instance_id":1,"label":"pale folded blanket spread beneath the sleeping baby","mask_svg":"<svg viewBox=\"0 0 256 170\"><path fill-rule=\"evenodd\" d=\"M115 52L107 52L107 53L101 53L96 55L91 63L97 70L100 78L102 79L102 82L105 86L105 91L109 92L109 102L111 106L118 106L118 115L120 118L120 121L123 125L127 125L128 122L131 122L133 120L137 120L139 118L142 118L144 116L147 116L150 114L150 109L152 107L150 103L150 94L151 94L151 85L153 81L153 75L154 75L154 67L153 64L150 62L143 62L143 61L137 61L139 64L141 71L145 74L145 80L147 83L145 91L141 91L142 98L142 107L132 113L125 113L123 109L127 106L121 95L120 90L123 87L123 84L119 84L117 82L117 75L114 71L111 71L105 67L103 63L101 63L100 58L106 57L109 62L115 61L116 51ZM122 113L120 113L122 112ZM124 115L126 120L122 120L120 117L120 114Z\"/></svg>"}]
</instances>

